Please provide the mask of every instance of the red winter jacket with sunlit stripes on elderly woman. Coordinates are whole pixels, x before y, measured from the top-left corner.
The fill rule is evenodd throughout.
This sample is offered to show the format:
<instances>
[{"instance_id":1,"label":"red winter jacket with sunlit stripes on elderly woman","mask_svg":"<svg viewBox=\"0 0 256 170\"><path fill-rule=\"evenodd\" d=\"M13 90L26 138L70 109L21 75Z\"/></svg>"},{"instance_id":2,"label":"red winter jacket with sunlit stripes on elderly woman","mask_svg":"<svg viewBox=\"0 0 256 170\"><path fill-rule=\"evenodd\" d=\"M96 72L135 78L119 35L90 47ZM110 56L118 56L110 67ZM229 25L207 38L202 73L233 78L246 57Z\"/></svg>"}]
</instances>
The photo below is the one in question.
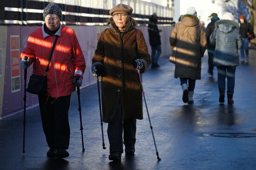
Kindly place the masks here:
<instances>
[{"instance_id":1,"label":"red winter jacket with sunlit stripes on elderly woman","mask_svg":"<svg viewBox=\"0 0 256 170\"><path fill-rule=\"evenodd\" d=\"M50 51L56 35L59 36L47 72L47 95L52 98L70 95L75 91L74 74L82 77L85 59L74 30L60 26L53 37L45 33L43 26L34 30L27 39L27 46L20 59L29 57L35 75L44 75Z\"/></svg>"}]
</instances>

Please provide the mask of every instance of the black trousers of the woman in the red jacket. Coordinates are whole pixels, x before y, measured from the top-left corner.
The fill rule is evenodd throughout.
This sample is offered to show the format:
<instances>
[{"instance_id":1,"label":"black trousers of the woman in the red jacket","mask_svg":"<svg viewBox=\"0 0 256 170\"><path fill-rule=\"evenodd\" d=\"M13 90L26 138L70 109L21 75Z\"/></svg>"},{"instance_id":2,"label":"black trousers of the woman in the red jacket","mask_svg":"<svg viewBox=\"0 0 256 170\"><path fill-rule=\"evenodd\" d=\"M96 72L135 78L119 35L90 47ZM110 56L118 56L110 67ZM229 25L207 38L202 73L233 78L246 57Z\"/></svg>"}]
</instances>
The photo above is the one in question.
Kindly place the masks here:
<instances>
[{"instance_id":1,"label":"black trousers of the woman in the red jacket","mask_svg":"<svg viewBox=\"0 0 256 170\"><path fill-rule=\"evenodd\" d=\"M38 95L43 131L50 148L68 149L70 97L71 95L47 99L47 96Z\"/></svg>"}]
</instances>

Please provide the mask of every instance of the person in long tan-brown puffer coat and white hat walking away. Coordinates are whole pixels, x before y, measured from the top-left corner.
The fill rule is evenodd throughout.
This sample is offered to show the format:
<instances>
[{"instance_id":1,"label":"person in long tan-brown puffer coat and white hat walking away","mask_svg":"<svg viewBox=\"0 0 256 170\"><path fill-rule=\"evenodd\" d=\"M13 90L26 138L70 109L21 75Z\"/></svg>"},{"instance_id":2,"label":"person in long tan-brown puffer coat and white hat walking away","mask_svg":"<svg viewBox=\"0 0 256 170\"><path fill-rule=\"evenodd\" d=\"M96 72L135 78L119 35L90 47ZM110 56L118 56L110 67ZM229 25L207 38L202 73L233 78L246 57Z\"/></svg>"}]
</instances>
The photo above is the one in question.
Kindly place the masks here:
<instances>
[{"instance_id":1,"label":"person in long tan-brown puffer coat and white hat walking away","mask_svg":"<svg viewBox=\"0 0 256 170\"><path fill-rule=\"evenodd\" d=\"M194 7L189 7L172 30L170 44L176 47L175 78L180 78L184 103L194 103L195 80L201 79L201 58L206 50L206 34ZM188 85L189 84L189 85Z\"/></svg>"}]
</instances>

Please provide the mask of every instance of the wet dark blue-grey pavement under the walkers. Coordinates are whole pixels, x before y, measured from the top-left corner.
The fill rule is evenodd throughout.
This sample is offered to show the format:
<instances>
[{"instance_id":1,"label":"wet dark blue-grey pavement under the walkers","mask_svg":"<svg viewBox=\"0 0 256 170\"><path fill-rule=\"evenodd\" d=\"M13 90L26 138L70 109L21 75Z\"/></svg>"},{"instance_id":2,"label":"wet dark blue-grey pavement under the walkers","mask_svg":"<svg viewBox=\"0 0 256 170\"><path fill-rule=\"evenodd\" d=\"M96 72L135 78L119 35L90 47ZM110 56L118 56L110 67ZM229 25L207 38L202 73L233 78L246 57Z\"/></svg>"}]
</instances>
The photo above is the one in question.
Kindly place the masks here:
<instances>
[{"instance_id":1,"label":"wet dark blue-grey pavement under the walkers","mask_svg":"<svg viewBox=\"0 0 256 170\"><path fill-rule=\"evenodd\" d=\"M207 52L205 53L207 54ZM81 89L85 152L82 152L77 94L69 109L70 156L48 158L39 107L27 110L26 153L22 153L23 112L0 120L1 170L256 170L256 50L250 61L236 69L234 105L218 102L217 72L207 73L207 55L202 59L202 79L196 81L194 104L182 102L174 65L160 59L160 68L143 74L143 87L161 161L144 107L137 121L135 155L122 154L121 163L108 160L107 124L102 149L97 84ZM225 96L226 97L226 96ZM145 105L144 105L145 106ZM220 133L219 136L211 136ZM231 133L223 134L223 133ZM218 136L218 135L217 135Z\"/></svg>"}]
</instances>

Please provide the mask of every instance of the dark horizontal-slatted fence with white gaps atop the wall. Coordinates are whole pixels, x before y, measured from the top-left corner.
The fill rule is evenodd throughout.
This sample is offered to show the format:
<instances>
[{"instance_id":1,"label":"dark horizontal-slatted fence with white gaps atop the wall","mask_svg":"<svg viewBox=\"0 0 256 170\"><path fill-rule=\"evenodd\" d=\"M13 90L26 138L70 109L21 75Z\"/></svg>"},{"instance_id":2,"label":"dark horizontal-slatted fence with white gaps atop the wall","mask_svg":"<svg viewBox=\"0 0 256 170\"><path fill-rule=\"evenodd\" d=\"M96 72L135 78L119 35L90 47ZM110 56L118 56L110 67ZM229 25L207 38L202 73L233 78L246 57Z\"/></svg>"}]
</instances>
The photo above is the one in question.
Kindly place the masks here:
<instances>
[{"instance_id":1,"label":"dark horizontal-slatted fence with white gaps atop the wall","mask_svg":"<svg viewBox=\"0 0 256 170\"><path fill-rule=\"evenodd\" d=\"M43 9L50 2L61 7L63 25L107 25L109 9L119 3L133 7L138 25L146 25L149 15L156 13L158 24L169 26L174 15L171 7L142 0L1 0L0 25L41 25Z\"/></svg>"}]
</instances>

